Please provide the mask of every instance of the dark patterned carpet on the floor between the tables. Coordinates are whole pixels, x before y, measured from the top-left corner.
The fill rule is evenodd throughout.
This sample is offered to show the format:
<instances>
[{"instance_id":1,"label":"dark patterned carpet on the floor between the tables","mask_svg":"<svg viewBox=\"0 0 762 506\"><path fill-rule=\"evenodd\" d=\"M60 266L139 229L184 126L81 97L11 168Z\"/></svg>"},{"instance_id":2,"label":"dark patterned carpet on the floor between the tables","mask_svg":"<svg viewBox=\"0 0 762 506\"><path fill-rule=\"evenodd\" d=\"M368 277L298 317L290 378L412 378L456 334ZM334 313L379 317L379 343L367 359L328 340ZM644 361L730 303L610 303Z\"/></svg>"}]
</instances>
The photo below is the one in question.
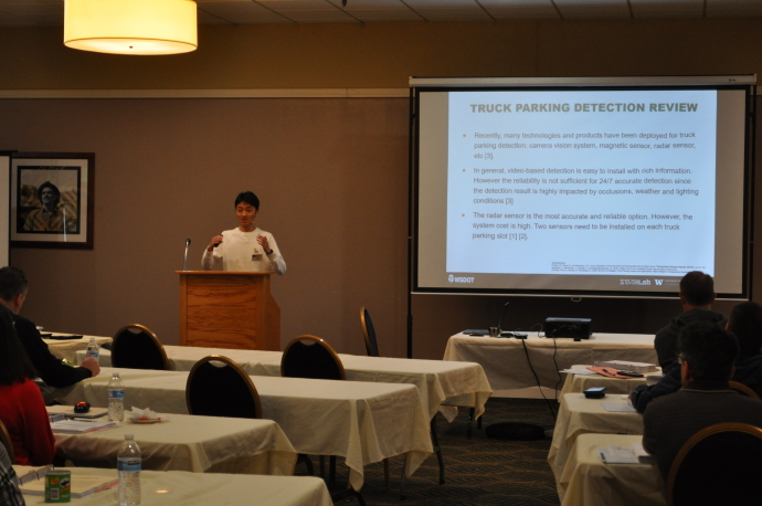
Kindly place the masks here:
<instances>
[{"instance_id":1,"label":"dark patterned carpet on the floor between the tables","mask_svg":"<svg viewBox=\"0 0 762 506\"><path fill-rule=\"evenodd\" d=\"M490 399L484 414L483 430L474 424L466 439L467 410L453 423L437 414L437 432L445 460L445 485L438 484L436 457L427 458L408 479L406 499L400 503L402 457L391 460L391 488L383 483L383 464L366 467L362 495L368 506L466 506L466 505L558 505L555 482L546 462L550 438L540 441L499 441L484 433L491 423L529 422L551 429L554 424L543 400ZM317 464L317 460L315 460ZM317 465L316 465L317 467ZM300 465L297 474L304 472ZM346 487L348 468L339 458L337 489ZM357 504L348 498L337 504Z\"/></svg>"}]
</instances>

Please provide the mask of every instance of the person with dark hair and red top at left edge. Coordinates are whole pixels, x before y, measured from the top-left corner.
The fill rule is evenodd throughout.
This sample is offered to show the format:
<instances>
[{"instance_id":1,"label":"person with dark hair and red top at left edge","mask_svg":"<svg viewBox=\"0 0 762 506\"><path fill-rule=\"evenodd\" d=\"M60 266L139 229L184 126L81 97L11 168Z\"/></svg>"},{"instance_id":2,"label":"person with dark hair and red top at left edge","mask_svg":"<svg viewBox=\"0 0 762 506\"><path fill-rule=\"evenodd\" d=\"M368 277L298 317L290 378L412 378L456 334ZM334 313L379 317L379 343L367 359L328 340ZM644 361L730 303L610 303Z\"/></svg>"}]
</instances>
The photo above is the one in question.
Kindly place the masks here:
<instances>
[{"instance_id":1,"label":"person with dark hair and red top at left edge","mask_svg":"<svg viewBox=\"0 0 762 506\"><path fill-rule=\"evenodd\" d=\"M55 439L36 372L13 331L12 314L0 306L0 420L13 443L15 464L53 463Z\"/></svg>"}]
</instances>

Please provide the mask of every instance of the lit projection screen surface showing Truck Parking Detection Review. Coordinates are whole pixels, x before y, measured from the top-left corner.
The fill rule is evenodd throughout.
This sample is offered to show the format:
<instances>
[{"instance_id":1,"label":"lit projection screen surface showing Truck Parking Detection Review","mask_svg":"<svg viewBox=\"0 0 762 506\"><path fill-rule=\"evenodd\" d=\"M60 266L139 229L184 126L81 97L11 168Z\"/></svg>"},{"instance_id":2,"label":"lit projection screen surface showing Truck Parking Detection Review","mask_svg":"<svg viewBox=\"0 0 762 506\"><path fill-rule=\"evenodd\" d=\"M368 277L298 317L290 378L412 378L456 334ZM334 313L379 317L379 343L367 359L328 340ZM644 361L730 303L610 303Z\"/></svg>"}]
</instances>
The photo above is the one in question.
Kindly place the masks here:
<instances>
[{"instance_id":1,"label":"lit projection screen surface showing Truck Parking Detection Review","mask_svg":"<svg viewBox=\"0 0 762 506\"><path fill-rule=\"evenodd\" d=\"M743 139L743 114L728 118L719 93L459 91L422 99L421 191L446 198L432 209L421 199L419 265L433 262L419 281L676 292L689 271L717 276L728 246L724 260L737 267L723 271L726 286L740 291L743 164L728 172L731 182L722 168L739 151L743 159L743 141L722 146L718 125L734 125ZM733 161L718 161L718 150L733 151ZM723 200L728 185L737 202ZM738 208L735 244L718 247L718 205Z\"/></svg>"}]
</instances>

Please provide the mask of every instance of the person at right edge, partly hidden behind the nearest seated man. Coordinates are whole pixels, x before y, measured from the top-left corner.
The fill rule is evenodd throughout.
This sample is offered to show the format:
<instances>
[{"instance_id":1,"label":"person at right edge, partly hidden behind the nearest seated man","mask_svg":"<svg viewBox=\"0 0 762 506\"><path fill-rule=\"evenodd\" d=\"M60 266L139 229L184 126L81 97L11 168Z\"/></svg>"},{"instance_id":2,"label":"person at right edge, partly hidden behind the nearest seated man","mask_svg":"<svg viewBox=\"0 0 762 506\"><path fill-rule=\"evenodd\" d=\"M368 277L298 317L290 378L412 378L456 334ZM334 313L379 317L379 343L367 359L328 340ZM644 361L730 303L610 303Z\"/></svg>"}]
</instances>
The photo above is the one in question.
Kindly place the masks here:
<instances>
[{"instance_id":1,"label":"person at right edge, partly hidden behind the nearest seated man","mask_svg":"<svg viewBox=\"0 0 762 506\"><path fill-rule=\"evenodd\" d=\"M741 349L735 362L735 373L731 379L762 397L762 306L748 302L733 307L727 329L735 336ZM680 388L680 368L675 367L658 383L637 387L631 399L635 409L643 413L650 401L675 393Z\"/></svg>"}]
</instances>

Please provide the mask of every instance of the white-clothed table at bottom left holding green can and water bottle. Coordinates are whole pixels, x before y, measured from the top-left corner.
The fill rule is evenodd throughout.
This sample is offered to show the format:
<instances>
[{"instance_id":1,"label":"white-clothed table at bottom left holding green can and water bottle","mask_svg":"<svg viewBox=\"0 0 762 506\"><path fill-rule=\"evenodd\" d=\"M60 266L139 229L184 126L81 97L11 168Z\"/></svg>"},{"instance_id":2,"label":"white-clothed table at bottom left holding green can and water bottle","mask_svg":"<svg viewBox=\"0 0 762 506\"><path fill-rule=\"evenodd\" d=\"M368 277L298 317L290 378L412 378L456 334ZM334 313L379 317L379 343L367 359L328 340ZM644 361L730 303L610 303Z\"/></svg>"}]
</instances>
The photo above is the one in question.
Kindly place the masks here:
<instances>
[{"instance_id":1,"label":"white-clothed table at bottom left holding green can and water bottle","mask_svg":"<svg viewBox=\"0 0 762 506\"><path fill-rule=\"evenodd\" d=\"M18 475L34 467L14 465ZM77 476L116 478L116 470L72 467ZM80 499L77 506L116 505L118 487ZM197 474L183 471L141 471L141 506L209 506L256 504L257 506L332 506L326 483L313 476L256 476L243 474ZM28 505L44 505L42 496L24 494Z\"/></svg>"}]
</instances>

